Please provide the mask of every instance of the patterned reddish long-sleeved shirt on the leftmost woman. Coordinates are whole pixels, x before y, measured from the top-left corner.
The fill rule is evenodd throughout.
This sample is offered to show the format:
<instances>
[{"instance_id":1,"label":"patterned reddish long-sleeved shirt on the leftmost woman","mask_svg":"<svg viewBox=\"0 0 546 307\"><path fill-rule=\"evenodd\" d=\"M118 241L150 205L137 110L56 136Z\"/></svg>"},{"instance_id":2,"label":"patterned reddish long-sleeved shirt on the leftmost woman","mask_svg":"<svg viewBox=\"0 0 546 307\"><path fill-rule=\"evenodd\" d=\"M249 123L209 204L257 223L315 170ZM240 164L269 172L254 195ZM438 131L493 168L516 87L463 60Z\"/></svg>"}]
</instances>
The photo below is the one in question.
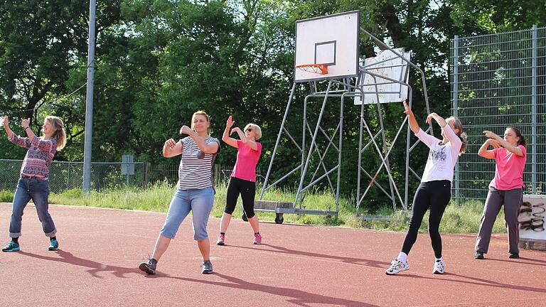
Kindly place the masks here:
<instances>
[{"instance_id":1,"label":"patterned reddish long-sleeved shirt on the leftmost woman","mask_svg":"<svg viewBox=\"0 0 546 307\"><path fill-rule=\"evenodd\" d=\"M57 140L42 139L34 136L32 141L12 133L11 143L28 149L21 166L21 176L31 176L38 180L47 180L49 166L57 152Z\"/></svg>"}]
</instances>

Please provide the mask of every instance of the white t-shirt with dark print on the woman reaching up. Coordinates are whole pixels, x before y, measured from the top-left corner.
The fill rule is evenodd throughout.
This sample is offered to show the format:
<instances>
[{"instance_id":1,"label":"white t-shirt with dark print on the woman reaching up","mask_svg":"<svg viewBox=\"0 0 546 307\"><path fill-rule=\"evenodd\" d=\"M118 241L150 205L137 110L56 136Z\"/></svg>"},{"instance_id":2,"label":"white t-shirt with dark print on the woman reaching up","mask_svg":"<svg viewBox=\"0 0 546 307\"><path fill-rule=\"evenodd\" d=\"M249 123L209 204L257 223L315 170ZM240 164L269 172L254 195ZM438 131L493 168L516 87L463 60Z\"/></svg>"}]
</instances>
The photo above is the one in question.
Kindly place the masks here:
<instances>
[{"instance_id":1,"label":"white t-shirt with dark print on the woman reaching up","mask_svg":"<svg viewBox=\"0 0 546 307\"><path fill-rule=\"evenodd\" d=\"M421 178L422 183L443 180L453 181L455 163L457 163L457 159L459 158L459 151L463 142L454 133L449 124L442 128L442 131L444 131L446 139L449 140L444 145L440 144L440 139L425 133L421 128L415 134L430 149L427 165L424 166Z\"/></svg>"}]
</instances>

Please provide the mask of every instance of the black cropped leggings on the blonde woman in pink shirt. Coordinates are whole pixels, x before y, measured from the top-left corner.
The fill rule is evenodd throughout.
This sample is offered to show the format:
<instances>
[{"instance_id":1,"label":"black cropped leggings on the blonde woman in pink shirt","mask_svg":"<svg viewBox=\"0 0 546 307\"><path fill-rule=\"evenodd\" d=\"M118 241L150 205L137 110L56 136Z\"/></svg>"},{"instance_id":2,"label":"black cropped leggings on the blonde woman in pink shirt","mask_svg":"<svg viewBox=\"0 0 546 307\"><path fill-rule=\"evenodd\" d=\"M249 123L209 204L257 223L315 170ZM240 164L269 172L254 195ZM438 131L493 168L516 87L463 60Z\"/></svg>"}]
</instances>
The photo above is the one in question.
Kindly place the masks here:
<instances>
[{"instance_id":1,"label":"black cropped leggings on the blonde woman in pink shirt","mask_svg":"<svg viewBox=\"0 0 546 307\"><path fill-rule=\"evenodd\" d=\"M230 184L228 185L228 195L225 198L224 212L233 214L235 206L237 205L237 198L239 194L242 198L242 208L245 210L247 218L254 217L254 197L256 195L256 183L252 181L245 181L239 178L230 178Z\"/></svg>"}]
</instances>

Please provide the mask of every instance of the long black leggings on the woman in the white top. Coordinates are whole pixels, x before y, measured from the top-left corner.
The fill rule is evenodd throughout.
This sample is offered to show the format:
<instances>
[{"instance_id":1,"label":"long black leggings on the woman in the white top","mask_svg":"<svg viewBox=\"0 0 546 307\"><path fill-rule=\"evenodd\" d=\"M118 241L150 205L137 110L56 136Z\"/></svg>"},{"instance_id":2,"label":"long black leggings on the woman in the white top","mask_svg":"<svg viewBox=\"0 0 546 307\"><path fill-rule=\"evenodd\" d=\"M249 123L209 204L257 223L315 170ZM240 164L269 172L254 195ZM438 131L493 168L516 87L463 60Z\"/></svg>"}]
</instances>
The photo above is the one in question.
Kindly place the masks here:
<instances>
[{"instance_id":1,"label":"long black leggings on the woman in the white top","mask_svg":"<svg viewBox=\"0 0 546 307\"><path fill-rule=\"evenodd\" d=\"M441 258L441 237L438 231L441 217L444 215L447 204L451 200L451 182L449 181L429 181L421 183L413 198L412 220L410 220L410 230L407 231L402 252L410 254L417 232L421 227L424 213L430 208L429 215L429 235L434 249L434 256Z\"/></svg>"}]
</instances>

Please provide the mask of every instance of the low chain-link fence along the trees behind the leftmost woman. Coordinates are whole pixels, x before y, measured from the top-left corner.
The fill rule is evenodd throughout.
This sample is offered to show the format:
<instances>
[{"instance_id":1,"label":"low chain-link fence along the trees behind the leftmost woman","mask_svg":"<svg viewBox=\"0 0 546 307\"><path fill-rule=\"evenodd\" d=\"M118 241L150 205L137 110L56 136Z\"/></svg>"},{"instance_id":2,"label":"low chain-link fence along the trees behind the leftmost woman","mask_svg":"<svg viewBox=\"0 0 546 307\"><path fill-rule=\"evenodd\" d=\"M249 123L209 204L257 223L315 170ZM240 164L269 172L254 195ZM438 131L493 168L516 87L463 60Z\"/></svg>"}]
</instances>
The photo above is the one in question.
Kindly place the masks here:
<instances>
[{"instance_id":1,"label":"low chain-link fence along the trees behind the leftmost woman","mask_svg":"<svg viewBox=\"0 0 546 307\"><path fill-rule=\"evenodd\" d=\"M14 190L19 179L21 160L0 159L0 190ZM144 187L149 182L149 164L143 162L91 163L91 189ZM82 189L83 162L53 161L49 167L49 186L53 193Z\"/></svg>"}]
</instances>

